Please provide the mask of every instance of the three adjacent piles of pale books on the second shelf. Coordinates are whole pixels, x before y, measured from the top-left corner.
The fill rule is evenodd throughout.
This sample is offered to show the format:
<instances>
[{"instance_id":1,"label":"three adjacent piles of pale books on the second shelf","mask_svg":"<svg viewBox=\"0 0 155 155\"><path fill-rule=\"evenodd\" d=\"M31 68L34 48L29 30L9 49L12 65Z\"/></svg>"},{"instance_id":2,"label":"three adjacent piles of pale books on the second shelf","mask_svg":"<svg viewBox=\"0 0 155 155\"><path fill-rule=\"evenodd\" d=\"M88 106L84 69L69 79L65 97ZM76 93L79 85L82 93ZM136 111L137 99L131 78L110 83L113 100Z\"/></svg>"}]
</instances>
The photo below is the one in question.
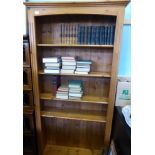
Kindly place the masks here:
<instances>
[{"instance_id":1,"label":"three adjacent piles of pale books on the second shelf","mask_svg":"<svg viewBox=\"0 0 155 155\"><path fill-rule=\"evenodd\" d=\"M91 60L77 60L76 57L43 58L44 72L51 74L88 74Z\"/></svg>"}]
</instances>

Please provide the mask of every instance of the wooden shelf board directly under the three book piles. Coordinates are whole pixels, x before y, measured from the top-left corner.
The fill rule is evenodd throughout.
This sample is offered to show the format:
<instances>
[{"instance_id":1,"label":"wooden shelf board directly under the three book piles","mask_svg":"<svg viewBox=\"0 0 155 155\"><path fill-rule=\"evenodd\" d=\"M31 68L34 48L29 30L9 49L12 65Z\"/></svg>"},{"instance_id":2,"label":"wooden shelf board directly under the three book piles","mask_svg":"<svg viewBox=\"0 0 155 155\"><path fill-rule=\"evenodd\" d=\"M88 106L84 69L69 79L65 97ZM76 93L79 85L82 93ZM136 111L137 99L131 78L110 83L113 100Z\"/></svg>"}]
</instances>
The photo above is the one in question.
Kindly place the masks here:
<instances>
[{"instance_id":1,"label":"wooden shelf board directly under the three book piles","mask_svg":"<svg viewBox=\"0 0 155 155\"><path fill-rule=\"evenodd\" d=\"M90 72L89 74L52 74L52 73L44 73L43 70L38 72L40 75L62 75L62 76L84 76L84 77L111 77L110 73L107 72Z\"/></svg>"}]
</instances>

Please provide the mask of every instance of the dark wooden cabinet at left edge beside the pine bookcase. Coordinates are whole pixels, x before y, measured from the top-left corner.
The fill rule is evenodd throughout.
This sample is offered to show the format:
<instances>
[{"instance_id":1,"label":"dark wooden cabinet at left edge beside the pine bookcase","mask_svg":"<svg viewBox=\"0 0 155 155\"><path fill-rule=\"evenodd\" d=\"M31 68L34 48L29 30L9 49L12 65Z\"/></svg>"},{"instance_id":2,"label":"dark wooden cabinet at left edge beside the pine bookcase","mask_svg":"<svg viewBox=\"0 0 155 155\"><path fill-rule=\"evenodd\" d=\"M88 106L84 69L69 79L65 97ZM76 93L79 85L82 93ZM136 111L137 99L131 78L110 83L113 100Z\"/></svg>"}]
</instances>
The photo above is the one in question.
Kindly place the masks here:
<instances>
[{"instance_id":1,"label":"dark wooden cabinet at left edge beside the pine bookcase","mask_svg":"<svg viewBox=\"0 0 155 155\"><path fill-rule=\"evenodd\" d=\"M28 36L23 36L23 155L36 155L36 132Z\"/></svg>"}]
</instances>

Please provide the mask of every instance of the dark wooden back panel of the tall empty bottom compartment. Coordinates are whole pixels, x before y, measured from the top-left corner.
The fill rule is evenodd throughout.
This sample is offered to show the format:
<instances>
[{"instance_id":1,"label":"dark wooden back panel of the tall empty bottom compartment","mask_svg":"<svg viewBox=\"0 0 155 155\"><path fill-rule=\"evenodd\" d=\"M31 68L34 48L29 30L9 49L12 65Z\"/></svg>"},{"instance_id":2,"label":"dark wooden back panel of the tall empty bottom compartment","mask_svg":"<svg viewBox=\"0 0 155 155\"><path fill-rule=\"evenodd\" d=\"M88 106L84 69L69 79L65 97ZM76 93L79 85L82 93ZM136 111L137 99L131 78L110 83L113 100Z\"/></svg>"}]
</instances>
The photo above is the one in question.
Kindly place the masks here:
<instances>
[{"instance_id":1,"label":"dark wooden back panel of the tall empty bottom compartment","mask_svg":"<svg viewBox=\"0 0 155 155\"><path fill-rule=\"evenodd\" d=\"M102 149L105 124L43 118L47 144Z\"/></svg>"}]
</instances>

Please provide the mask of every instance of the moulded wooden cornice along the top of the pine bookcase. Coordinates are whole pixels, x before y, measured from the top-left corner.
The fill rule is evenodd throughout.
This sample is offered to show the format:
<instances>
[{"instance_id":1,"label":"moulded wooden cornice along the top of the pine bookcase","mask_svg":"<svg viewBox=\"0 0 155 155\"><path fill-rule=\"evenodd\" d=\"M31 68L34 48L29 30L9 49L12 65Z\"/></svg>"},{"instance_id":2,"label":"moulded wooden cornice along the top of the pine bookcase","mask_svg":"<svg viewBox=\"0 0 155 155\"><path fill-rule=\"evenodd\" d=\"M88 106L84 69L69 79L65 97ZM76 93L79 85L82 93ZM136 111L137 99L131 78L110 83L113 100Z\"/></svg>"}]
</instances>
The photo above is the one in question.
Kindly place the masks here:
<instances>
[{"instance_id":1,"label":"moulded wooden cornice along the top of the pine bookcase","mask_svg":"<svg viewBox=\"0 0 155 155\"><path fill-rule=\"evenodd\" d=\"M94 1L70 1L70 2L24 2L27 7L54 7L54 6L101 6L115 5L126 6L130 0L94 0Z\"/></svg>"}]
</instances>

